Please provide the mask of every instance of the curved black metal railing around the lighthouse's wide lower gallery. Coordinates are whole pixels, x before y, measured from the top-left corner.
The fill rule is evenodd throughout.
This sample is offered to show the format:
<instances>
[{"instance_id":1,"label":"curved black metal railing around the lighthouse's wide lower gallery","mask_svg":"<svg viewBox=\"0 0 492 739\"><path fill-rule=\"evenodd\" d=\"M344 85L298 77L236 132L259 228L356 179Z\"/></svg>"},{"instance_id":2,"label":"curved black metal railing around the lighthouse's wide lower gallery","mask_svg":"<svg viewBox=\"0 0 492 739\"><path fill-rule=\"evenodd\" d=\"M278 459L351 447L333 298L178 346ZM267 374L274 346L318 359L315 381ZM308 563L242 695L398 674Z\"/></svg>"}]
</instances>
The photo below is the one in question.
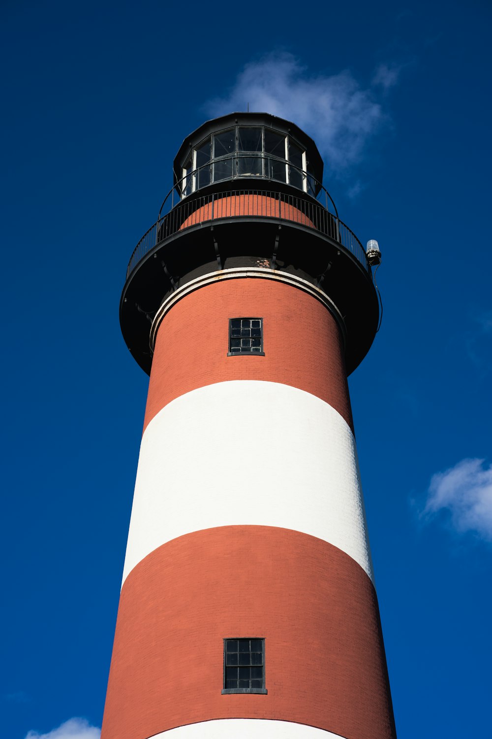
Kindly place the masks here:
<instances>
[{"instance_id":1,"label":"curved black metal railing around the lighthouse's wide lower gallery","mask_svg":"<svg viewBox=\"0 0 492 739\"><path fill-rule=\"evenodd\" d=\"M164 201L165 202L165 201ZM244 217L294 222L339 242L371 274L367 256L357 236L336 215L308 196L265 190L234 190L185 197L169 213L159 216L136 245L128 263L127 279L140 260L170 236L218 219Z\"/></svg>"}]
</instances>

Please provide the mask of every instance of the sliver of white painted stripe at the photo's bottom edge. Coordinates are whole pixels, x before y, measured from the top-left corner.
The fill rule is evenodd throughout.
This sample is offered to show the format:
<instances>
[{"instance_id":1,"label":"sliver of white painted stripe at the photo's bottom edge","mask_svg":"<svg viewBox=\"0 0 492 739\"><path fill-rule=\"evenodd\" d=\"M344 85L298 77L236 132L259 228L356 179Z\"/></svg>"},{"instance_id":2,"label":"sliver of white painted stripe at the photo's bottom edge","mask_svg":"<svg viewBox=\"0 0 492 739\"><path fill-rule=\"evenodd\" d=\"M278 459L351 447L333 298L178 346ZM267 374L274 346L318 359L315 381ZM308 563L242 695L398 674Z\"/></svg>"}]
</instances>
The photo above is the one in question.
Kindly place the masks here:
<instances>
[{"instance_id":1,"label":"sliver of white painted stripe at the photo's bottom edge","mask_svg":"<svg viewBox=\"0 0 492 739\"><path fill-rule=\"evenodd\" d=\"M154 734L150 739L344 739L339 734L291 721L268 718L222 718L219 721L188 723L177 729Z\"/></svg>"}]
</instances>

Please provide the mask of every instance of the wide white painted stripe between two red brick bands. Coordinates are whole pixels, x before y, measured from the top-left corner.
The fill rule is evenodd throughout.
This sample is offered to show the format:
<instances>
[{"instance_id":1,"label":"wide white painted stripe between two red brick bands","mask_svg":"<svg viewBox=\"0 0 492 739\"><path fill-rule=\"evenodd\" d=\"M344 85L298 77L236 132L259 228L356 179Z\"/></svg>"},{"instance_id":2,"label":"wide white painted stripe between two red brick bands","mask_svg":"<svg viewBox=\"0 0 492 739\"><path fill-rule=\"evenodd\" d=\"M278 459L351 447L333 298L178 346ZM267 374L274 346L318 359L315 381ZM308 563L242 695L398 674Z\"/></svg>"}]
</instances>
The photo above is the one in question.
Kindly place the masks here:
<instances>
[{"instance_id":1,"label":"wide white painted stripe between two red brick bands","mask_svg":"<svg viewBox=\"0 0 492 739\"><path fill-rule=\"evenodd\" d=\"M280 383L228 381L181 395L150 421L123 581L170 539L238 524L325 539L373 577L356 442L328 403Z\"/></svg>"}]
</instances>

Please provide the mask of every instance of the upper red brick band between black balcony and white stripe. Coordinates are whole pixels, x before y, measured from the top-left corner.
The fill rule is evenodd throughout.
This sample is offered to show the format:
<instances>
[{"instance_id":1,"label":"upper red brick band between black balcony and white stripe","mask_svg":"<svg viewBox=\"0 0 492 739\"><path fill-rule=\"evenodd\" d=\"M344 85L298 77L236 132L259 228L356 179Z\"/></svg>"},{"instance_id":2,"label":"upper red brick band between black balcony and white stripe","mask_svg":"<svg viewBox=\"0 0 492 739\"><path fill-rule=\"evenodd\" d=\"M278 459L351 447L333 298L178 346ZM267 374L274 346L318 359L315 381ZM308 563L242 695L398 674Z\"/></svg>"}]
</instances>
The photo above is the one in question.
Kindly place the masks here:
<instances>
[{"instance_id":1,"label":"upper red brick band between black balcony and white stripe","mask_svg":"<svg viewBox=\"0 0 492 739\"><path fill-rule=\"evenodd\" d=\"M228 357L229 319L263 318L265 356ZM330 403L353 426L342 340L313 296L269 279L228 279L188 294L156 338L144 429L184 392L227 380L281 382Z\"/></svg>"}]
</instances>

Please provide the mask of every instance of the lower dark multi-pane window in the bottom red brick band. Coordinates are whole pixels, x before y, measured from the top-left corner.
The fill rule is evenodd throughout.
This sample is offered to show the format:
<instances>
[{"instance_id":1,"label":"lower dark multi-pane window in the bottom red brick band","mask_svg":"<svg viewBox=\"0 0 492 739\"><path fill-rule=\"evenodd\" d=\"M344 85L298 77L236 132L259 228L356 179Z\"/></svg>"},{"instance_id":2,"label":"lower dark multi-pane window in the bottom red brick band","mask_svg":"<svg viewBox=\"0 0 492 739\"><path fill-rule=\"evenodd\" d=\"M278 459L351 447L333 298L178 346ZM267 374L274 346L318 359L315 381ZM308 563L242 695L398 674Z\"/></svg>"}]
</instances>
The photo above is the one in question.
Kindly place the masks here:
<instances>
[{"instance_id":1,"label":"lower dark multi-pane window in the bottom red brick band","mask_svg":"<svg viewBox=\"0 0 492 739\"><path fill-rule=\"evenodd\" d=\"M224 689L222 693L263 693L265 689L265 639L224 639Z\"/></svg>"}]
</instances>

